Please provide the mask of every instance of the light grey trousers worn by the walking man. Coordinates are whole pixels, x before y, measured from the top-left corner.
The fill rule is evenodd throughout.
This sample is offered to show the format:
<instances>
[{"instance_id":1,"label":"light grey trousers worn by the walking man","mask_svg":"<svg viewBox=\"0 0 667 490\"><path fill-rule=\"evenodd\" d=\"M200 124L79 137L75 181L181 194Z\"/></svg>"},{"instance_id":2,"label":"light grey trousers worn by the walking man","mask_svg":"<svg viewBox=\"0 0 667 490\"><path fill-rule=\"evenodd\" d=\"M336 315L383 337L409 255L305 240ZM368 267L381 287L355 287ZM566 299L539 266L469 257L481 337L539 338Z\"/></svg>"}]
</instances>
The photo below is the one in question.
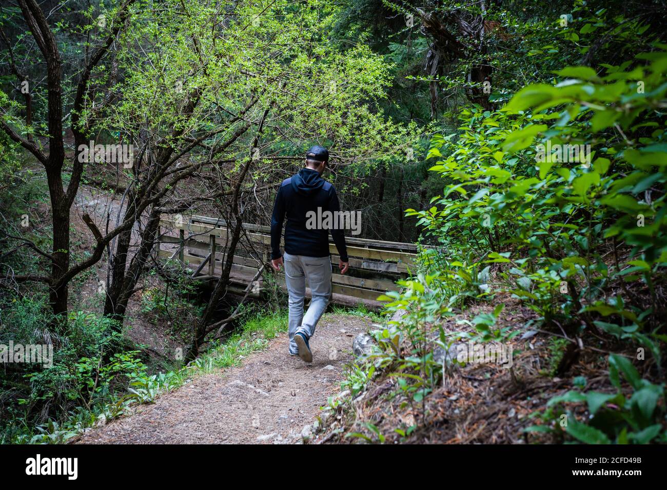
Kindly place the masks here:
<instances>
[{"instance_id":1,"label":"light grey trousers worn by the walking man","mask_svg":"<svg viewBox=\"0 0 667 490\"><path fill-rule=\"evenodd\" d=\"M331 299L331 258L283 254L285 283L289 293L289 352L298 352L294 334L303 333L307 339L315 333L315 325ZM303 314L305 281L312 293L308 311Z\"/></svg>"}]
</instances>

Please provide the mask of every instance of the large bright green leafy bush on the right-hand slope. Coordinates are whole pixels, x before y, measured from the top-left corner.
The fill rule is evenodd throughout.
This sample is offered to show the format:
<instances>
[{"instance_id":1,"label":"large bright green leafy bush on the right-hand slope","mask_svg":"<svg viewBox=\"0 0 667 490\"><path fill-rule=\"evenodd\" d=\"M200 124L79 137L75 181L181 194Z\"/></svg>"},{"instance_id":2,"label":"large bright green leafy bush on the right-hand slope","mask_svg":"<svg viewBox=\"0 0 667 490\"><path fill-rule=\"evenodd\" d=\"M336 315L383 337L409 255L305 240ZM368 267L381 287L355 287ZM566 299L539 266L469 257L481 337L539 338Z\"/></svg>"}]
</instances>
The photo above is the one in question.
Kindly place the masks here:
<instances>
[{"instance_id":1,"label":"large bright green leafy bush on the right-hand slope","mask_svg":"<svg viewBox=\"0 0 667 490\"><path fill-rule=\"evenodd\" d=\"M638 57L647 58L645 69L617 67L598 81L530 85L500 112L464 111L456 141L436 136L430 150L439 159L431 170L452 184L428 211L408 213L420 217L446 255L472 252L500 265L504 279L516 285L514 295L547 323L559 310L578 313L584 300L592 307L608 304L602 293L614 280L643 281L655 308L653 283L667 259L667 218L664 191L654 191L654 199L645 191L664 189L667 180L664 130L652 121L661 119L654 108L664 101L667 87L660 80L667 57L664 51ZM654 89L637 93L638 77ZM562 109L544 111L556 106ZM530 108L533 113L526 113ZM613 121L596 123L607 115ZM613 143L598 149L595 134L609 125ZM592 144L592 163L542 161L539 145L545 144ZM616 241L632 248L628 260L610 271L602 251ZM625 316L640 327L636 315Z\"/></svg>"}]
</instances>

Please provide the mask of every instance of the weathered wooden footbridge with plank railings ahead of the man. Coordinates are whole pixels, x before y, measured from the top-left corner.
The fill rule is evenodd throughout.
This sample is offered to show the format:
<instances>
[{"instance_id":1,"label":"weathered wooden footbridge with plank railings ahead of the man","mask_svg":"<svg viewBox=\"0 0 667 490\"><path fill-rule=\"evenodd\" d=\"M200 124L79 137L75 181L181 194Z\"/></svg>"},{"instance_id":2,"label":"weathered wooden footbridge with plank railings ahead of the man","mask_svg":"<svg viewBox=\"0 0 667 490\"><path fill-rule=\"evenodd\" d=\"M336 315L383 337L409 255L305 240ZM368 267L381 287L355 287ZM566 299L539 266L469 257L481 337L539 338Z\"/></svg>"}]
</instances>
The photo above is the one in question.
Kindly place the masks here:
<instances>
[{"instance_id":1,"label":"weathered wooden footbridge with plank railings ahead of the man","mask_svg":"<svg viewBox=\"0 0 667 490\"><path fill-rule=\"evenodd\" d=\"M159 257L177 259L188 265L194 279L210 281L219 278L226 259L224 249L229 233L223 219L197 215L189 219L165 218L161 219L160 227L157 243ZM385 291L398 291L400 287L394 281L407 277L410 269L414 269L417 247L413 243L355 237L346 237L346 243L350 269L346 275L341 275L338 250L329 237L333 303L356 305L361 301L367 306L378 307L381 305L376 301L378 296ZM283 271L275 273L271 269L270 257L269 227L243 223L241 241L233 256L229 291L261 297L267 271L284 287Z\"/></svg>"}]
</instances>

